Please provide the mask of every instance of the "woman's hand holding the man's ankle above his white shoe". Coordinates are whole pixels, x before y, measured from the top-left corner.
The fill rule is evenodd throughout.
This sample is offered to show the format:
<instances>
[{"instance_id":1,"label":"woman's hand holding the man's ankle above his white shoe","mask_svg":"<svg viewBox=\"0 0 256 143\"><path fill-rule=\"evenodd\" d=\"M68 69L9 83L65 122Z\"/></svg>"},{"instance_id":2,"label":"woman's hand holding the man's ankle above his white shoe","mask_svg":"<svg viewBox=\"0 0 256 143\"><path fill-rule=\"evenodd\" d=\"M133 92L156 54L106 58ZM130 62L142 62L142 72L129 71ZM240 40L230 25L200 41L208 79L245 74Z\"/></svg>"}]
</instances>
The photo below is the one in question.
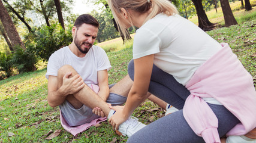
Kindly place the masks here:
<instances>
[{"instance_id":1,"label":"woman's hand holding the man's ankle above his white shoe","mask_svg":"<svg viewBox=\"0 0 256 143\"><path fill-rule=\"evenodd\" d=\"M109 123L113 126L114 129L119 129L119 125L121 125L122 123L124 123L128 117L125 117L124 113L123 113L123 108L122 106L118 106L118 107L113 107L113 106L109 106L109 108L115 110L115 114L112 115L112 117L110 117L109 119Z\"/></svg>"}]
</instances>

